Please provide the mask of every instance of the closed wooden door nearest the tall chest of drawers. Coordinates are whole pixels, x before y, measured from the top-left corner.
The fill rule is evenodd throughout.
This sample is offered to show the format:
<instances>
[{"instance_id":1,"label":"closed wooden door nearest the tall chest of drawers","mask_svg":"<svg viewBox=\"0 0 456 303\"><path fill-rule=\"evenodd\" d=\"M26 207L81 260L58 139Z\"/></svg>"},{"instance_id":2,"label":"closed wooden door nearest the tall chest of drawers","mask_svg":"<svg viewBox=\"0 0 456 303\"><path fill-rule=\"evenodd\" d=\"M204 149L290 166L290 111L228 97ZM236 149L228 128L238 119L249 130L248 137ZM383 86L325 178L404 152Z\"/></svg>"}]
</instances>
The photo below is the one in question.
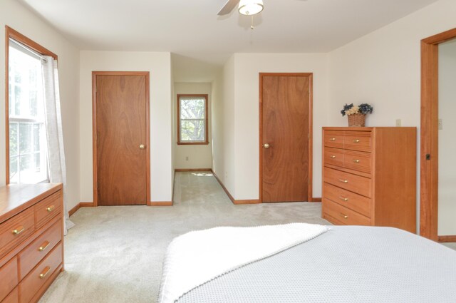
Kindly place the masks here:
<instances>
[{"instance_id":1,"label":"closed wooden door nearest the tall chest of drawers","mask_svg":"<svg viewBox=\"0 0 456 303\"><path fill-rule=\"evenodd\" d=\"M309 199L307 76L261 76L261 199Z\"/></svg>"}]
</instances>

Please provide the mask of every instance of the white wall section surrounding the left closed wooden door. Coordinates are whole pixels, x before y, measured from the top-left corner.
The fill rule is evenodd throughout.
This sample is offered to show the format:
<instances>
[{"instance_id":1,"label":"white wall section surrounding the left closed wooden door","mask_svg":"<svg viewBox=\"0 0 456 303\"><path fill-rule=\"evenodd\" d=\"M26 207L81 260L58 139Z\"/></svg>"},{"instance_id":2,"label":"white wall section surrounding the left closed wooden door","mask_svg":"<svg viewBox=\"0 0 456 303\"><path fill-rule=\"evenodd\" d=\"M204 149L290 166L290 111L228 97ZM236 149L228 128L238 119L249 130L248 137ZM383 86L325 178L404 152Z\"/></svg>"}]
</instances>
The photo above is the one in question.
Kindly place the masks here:
<instances>
[{"instance_id":1,"label":"white wall section surrounding the left closed wooden door","mask_svg":"<svg viewBox=\"0 0 456 303\"><path fill-rule=\"evenodd\" d=\"M150 197L172 199L172 78L170 53L81 51L81 200L93 201L92 71L150 72Z\"/></svg>"}]
</instances>

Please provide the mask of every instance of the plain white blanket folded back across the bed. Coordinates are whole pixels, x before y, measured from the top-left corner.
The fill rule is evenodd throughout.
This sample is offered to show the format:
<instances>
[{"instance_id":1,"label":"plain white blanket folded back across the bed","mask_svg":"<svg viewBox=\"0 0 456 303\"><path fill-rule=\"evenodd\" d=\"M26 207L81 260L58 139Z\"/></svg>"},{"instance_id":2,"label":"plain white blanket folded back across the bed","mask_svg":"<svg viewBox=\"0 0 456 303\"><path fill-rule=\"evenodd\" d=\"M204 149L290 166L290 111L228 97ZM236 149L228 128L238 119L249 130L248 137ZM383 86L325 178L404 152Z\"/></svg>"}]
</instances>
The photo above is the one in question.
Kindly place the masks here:
<instances>
[{"instance_id":1,"label":"plain white blanket folded back across the bed","mask_svg":"<svg viewBox=\"0 0 456 303\"><path fill-rule=\"evenodd\" d=\"M172 303L222 274L264 259L326 232L306 223L216 227L172 240L163 264L158 302Z\"/></svg>"}]
</instances>

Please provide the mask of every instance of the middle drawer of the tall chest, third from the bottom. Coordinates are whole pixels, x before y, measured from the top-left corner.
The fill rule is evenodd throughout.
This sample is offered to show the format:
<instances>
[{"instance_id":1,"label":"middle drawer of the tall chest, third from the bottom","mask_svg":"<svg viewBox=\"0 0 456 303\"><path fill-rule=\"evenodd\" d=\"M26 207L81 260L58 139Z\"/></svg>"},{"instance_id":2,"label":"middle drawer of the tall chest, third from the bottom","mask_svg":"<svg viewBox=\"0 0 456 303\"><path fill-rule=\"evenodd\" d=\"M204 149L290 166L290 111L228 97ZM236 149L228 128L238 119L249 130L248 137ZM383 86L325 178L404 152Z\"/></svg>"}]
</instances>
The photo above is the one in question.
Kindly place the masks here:
<instances>
[{"instance_id":1,"label":"middle drawer of the tall chest, third from the bottom","mask_svg":"<svg viewBox=\"0 0 456 303\"><path fill-rule=\"evenodd\" d=\"M371 179L351 173L344 173L340 170L333 170L332 168L324 168L323 172L323 182L336 185L338 188L350 190L351 192L356 192L359 195L371 197Z\"/></svg>"}]
</instances>

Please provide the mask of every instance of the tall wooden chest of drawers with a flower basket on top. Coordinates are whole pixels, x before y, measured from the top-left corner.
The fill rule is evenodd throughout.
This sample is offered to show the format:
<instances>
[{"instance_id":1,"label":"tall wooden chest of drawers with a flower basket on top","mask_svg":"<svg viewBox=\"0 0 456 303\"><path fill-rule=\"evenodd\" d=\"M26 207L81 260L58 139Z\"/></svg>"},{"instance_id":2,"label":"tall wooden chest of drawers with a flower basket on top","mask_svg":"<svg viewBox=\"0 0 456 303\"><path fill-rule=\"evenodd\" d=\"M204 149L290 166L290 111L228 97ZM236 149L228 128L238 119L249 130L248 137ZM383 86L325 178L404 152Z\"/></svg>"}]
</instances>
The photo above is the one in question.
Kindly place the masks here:
<instances>
[{"instance_id":1,"label":"tall wooden chest of drawers with a flower basket on top","mask_svg":"<svg viewBox=\"0 0 456 303\"><path fill-rule=\"evenodd\" d=\"M323 128L322 216L416 231L416 128Z\"/></svg>"}]
</instances>

